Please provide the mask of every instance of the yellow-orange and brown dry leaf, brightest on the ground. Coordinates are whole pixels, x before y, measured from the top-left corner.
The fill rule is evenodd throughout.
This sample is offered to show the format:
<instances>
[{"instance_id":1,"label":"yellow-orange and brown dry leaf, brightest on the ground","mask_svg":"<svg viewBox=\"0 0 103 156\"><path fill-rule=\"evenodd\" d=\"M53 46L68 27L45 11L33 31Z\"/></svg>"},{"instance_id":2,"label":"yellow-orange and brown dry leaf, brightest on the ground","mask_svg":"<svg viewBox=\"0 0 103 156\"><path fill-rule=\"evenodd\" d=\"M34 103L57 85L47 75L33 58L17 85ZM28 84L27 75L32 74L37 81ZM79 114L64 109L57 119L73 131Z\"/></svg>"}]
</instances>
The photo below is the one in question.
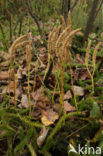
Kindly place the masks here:
<instances>
[{"instance_id":1,"label":"yellow-orange and brown dry leaf, brightest on the ground","mask_svg":"<svg viewBox=\"0 0 103 156\"><path fill-rule=\"evenodd\" d=\"M59 115L52 109L44 112L45 115L42 116L41 121L45 126L54 124L54 122L59 118Z\"/></svg>"}]
</instances>

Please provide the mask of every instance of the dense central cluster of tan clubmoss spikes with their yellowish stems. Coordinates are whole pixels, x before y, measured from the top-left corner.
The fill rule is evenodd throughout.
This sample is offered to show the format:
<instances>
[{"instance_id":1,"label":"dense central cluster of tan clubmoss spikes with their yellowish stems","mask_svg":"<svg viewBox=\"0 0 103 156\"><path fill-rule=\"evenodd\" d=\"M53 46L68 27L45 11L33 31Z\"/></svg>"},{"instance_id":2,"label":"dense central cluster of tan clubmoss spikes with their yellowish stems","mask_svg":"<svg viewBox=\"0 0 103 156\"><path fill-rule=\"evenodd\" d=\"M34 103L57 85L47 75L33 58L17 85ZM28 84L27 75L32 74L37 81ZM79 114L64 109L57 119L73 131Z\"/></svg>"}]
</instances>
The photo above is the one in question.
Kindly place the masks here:
<instances>
[{"instance_id":1,"label":"dense central cluster of tan clubmoss spikes with their yellowish stems","mask_svg":"<svg viewBox=\"0 0 103 156\"><path fill-rule=\"evenodd\" d=\"M72 90L73 90L73 94L74 94L75 106L76 106L76 109L78 110L75 92L74 92L74 86L73 86L72 68L71 68L72 56L71 56L70 48L71 48L71 44L72 44L73 35L75 35L79 31L81 31L80 28L72 31L70 12L68 13L68 26L67 27L66 27L66 23L65 23L63 16L61 16L61 20L62 20L62 24L58 28L54 27L48 37L48 64L47 64L47 69L44 74L44 78L45 78L48 68L49 68L49 65L50 65L50 60L53 61L53 65L54 65L54 56L56 55L58 57L58 62L57 62L56 68L59 68L59 70L60 70L60 81L61 81L61 87L59 87L59 90L60 90L60 114L62 113L62 111L64 112L63 80L64 80L64 72L65 72L65 63L66 62L69 62L71 85L72 85ZM60 33L60 29L61 29L61 33ZM54 71L56 68L54 68ZM58 81L57 78L56 78L56 81ZM58 83L56 83L56 84L58 84ZM54 92L55 92L55 90L56 90L56 86L54 87ZM53 99L52 99L52 101L53 101ZM64 112L64 114L65 114L65 112Z\"/></svg>"}]
</instances>

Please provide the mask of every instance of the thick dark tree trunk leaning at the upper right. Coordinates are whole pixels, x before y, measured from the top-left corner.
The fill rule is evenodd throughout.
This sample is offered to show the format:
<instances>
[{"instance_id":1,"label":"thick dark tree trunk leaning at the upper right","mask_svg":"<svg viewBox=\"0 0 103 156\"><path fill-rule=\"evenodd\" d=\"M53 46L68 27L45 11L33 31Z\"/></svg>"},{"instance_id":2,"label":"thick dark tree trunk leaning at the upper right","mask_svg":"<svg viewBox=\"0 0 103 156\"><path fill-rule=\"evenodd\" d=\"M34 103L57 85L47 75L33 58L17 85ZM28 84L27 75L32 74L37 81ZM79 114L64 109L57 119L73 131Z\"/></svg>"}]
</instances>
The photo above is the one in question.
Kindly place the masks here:
<instances>
[{"instance_id":1,"label":"thick dark tree trunk leaning at the upper right","mask_svg":"<svg viewBox=\"0 0 103 156\"><path fill-rule=\"evenodd\" d=\"M87 21L87 26L86 26L84 37L83 37L83 44L88 39L89 33L91 32L91 30L93 28L93 23L94 23L94 20L95 20L95 15L96 15L96 9L97 9L97 6L98 6L98 2L99 2L98 0L93 1L92 9L91 9L90 14L89 14L89 18L88 18L88 21Z\"/></svg>"}]
</instances>

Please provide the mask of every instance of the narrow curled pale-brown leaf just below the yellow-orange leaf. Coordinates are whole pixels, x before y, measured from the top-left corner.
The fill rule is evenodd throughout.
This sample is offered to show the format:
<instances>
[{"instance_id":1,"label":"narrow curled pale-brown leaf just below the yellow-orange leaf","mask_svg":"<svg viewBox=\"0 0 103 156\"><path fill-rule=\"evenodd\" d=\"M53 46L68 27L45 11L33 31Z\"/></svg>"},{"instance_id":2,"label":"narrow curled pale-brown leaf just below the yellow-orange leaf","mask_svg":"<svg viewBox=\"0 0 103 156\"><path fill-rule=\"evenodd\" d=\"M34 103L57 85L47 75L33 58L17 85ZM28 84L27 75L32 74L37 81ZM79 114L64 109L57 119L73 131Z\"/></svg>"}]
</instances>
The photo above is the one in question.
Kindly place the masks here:
<instances>
[{"instance_id":1,"label":"narrow curled pale-brown leaf just below the yellow-orange leaf","mask_svg":"<svg viewBox=\"0 0 103 156\"><path fill-rule=\"evenodd\" d=\"M46 127L43 125L40 135L37 138L37 145L39 148L42 146L43 142L45 141L48 131L49 131L49 128L46 129Z\"/></svg>"}]
</instances>

